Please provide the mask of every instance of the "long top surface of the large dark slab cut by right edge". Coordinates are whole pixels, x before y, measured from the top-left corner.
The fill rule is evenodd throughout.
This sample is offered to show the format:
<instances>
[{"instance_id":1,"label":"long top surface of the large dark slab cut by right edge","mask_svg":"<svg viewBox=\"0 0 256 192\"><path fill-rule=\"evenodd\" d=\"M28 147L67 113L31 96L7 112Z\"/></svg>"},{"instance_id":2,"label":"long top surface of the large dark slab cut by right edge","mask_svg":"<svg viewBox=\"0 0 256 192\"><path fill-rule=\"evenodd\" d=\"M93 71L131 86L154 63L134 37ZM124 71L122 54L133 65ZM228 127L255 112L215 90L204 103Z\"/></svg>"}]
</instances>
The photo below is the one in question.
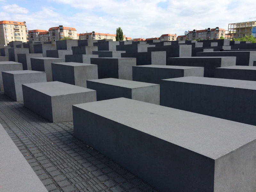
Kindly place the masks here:
<instances>
[{"instance_id":1,"label":"long top surface of the large dark slab cut by right edge","mask_svg":"<svg viewBox=\"0 0 256 192\"><path fill-rule=\"evenodd\" d=\"M244 81L244 80L236 80L236 79L219 79L219 78L196 77L196 76L179 77L179 78L164 79L164 80L256 90L255 81Z\"/></svg>"}]
</instances>

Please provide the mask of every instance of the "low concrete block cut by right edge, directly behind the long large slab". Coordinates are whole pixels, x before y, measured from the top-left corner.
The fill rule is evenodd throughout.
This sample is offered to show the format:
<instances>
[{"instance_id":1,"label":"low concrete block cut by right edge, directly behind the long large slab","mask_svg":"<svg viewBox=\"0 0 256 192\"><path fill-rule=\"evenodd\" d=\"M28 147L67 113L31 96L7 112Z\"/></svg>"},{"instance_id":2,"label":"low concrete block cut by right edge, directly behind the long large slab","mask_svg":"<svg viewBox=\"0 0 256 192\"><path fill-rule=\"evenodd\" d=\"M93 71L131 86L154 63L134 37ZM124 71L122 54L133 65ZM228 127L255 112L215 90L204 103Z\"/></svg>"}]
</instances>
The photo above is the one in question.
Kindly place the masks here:
<instances>
[{"instance_id":1,"label":"low concrete block cut by right edge, directly behind the long large slab","mask_svg":"<svg viewBox=\"0 0 256 192\"><path fill-rule=\"evenodd\" d=\"M215 78L256 81L256 67L230 66L215 68Z\"/></svg>"}]
</instances>

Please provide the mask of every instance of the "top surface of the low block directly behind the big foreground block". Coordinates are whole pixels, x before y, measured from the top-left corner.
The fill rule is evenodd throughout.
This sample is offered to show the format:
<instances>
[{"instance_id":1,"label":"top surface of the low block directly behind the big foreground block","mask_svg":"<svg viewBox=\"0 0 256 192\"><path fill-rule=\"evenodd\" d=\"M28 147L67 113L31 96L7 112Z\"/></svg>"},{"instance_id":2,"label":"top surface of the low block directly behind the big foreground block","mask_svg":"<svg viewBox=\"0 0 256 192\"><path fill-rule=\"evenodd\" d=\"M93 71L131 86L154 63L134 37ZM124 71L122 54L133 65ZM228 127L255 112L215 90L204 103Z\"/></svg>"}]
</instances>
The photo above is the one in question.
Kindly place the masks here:
<instances>
[{"instance_id":1,"label":"top surface of the low block directly behind the big foreground block","mask_svg":"<svg viewBox=\"0 0 256 192\"><path fill-rule=\"evenodd\" d=\"M131 88L131 89L157 85L157 84L152 84L152 83L144 83L144 82L130 81L130 80L124 80L124 79L115 79L115 78L94 79L94 80L87 80L87 81L93 81L93 82L103 83L103 84L110 84L110 85L115 85L115 86L119 86L119 87Z\"/></svg>"}]
</instances>

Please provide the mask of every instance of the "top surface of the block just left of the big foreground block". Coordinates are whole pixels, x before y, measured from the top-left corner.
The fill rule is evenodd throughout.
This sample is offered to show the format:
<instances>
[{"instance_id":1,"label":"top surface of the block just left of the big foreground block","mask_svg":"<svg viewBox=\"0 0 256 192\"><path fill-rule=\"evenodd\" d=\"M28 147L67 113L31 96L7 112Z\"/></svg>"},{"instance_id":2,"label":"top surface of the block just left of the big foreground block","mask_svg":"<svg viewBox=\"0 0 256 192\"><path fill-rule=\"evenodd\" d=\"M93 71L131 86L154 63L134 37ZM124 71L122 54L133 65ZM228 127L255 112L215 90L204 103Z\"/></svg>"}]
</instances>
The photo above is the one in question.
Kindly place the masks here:
<instances>
[{"instance_id":1,"label":"top surface of the block just left of the big foreground block","mask_svg":"<svg viewBox=\"0 0 256 192\"><path fill-rule=\"evenodd\" d=\"M30 83L30 84L24 84L24 85L49 96L59 96L59 95L94 91L92 89L87 89L87 88L79 87L76 85L62 83L59 81Z\"/></svg>"}]
</instances>

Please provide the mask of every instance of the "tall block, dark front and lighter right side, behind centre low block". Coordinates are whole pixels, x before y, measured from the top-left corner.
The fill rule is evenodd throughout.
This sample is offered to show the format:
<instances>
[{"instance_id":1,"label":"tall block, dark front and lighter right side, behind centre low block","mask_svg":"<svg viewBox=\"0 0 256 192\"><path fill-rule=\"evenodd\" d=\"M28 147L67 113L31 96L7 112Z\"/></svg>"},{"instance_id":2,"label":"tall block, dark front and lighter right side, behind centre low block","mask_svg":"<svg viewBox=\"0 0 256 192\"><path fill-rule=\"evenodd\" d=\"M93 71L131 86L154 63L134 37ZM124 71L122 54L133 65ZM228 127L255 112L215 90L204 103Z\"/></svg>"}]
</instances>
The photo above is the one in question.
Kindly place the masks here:
<instances>
[{"instance_id":1,"label":"tall block, dark front and lighter right side, behind centre low block","mask_svg":"<svg viewBox=\"0 0 256 192\"><path fill-rule=\"evenodd\" d=\"M132 80L132 66L136 58L91 58L91 64L98 65L98 77Z\"/></svg>"}]
</instances>

